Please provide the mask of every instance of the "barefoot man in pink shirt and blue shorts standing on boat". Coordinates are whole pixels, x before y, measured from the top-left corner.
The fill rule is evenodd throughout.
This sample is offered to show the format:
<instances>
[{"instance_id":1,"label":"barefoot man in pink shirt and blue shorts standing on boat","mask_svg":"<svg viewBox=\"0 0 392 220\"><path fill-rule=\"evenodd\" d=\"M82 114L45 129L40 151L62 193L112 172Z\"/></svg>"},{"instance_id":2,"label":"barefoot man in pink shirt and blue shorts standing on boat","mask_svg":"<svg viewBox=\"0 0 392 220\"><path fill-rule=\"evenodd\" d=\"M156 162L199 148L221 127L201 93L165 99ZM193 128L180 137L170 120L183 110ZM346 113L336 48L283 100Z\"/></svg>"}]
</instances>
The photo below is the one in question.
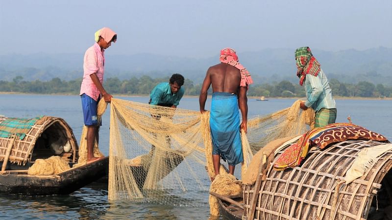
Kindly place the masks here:
<instances>
[{"instance_id":1,"label":"barefoot man in pink shirt and blue shorts standing on boat","mask_svg":"<svg viewBox=\"0 0 392 220\"><path fill-rule=\"evenodd\" d=\"M98 143L97 106L100 98L110 102L112 95L102 86L105 65L104 52L112 42L116 43L117 34L108 27L95 33L95 44L86 50L83 60L83 81L80 86L84 124L87 126L87 162L99 159L94 156L94 143Z\"/></svg>"}]
</instances>

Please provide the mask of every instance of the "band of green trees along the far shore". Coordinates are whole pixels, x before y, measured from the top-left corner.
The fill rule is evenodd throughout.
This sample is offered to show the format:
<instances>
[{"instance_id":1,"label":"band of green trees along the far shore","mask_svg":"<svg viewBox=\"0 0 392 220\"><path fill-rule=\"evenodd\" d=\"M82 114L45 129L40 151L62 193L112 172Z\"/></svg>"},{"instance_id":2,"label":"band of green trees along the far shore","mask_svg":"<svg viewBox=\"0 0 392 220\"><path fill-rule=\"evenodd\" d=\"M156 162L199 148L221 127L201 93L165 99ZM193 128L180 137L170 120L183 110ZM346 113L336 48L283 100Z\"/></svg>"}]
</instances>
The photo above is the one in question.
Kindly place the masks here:
<instances>
[{"instance_id":1,"label":"band of green trees along the far shore","mask_svg":"<svg viewBox=\"0 0 392 220\"><path fill-rule=\"evenodd\" d=\"M132 77L128 80L119 78L107 78L104 81L104 88L111 94L146 95L158 83L168 82L167 78L151 78L150 76ZM22 76L15 77L12 81L0 81L0 92L21 92L36 94L78 94L82 79L61 80L53 78L50 81L24 81ZM339 82L331 79L329 85L334 96L344 97L392 97L392 87L382 84L374 85L362 81L357 84ZM185 79L185 95L198 95L201 84L195 84L189 79ZM212 92L210 92L212 93ZM275 84L254 84L248 90L248 96L265 97L305 97L305 89L299 84L289 81L281 81Z\"/></svg>"}]
</instances>

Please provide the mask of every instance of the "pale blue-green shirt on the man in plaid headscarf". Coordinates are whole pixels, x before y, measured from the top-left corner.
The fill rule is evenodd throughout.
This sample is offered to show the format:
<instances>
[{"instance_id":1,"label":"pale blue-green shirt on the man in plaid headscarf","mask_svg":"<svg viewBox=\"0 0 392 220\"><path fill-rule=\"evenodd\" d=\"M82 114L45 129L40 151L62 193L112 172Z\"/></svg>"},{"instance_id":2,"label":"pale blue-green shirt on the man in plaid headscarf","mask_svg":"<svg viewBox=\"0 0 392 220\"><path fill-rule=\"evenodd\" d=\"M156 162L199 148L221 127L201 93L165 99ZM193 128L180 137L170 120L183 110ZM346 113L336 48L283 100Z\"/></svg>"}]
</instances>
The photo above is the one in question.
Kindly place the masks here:
<instances>
[{"instance_id":1,"label":"pale blue-green shirt on the man in plaid headscarf","mask_svg":"<svg viewBox=\"0 0 392 220\"><path fill-rule=\"evenodd\" d=\"M332 98L332 90L322 69L320 69L317 76L307 74L304 84L307 98L306 107L312 107L316 112L322 108L336 109L335 100Z\"/></svg>"}]
</instances>

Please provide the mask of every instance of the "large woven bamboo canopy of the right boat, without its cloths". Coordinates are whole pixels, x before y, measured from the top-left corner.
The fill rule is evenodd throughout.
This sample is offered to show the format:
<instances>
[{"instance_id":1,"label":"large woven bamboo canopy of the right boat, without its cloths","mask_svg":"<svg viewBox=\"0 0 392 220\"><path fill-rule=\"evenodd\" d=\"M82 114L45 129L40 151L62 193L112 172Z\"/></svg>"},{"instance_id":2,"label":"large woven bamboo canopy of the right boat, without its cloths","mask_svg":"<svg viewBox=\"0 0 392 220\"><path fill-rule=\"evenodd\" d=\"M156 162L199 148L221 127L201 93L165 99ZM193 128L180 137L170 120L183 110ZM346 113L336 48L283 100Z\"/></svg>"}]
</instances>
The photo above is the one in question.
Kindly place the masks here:
<instances>
[{"instance_id":1,"label":"large woven bamboo canopy of the right boat, without its cloths","mask_svg":"<svg viewBox=\"0 0 392 220\"><path fill-rule=\"evenodd\" d=\"M343 178L363 148L382 144L386 143L368 140L339 142L324 150L309 152L300 167L284 171L272 169L271 162L260 189L255 189L255 185L244 186L243 219L249 219L251 215L252 219L258 220L367 219L371 206L375 206L372 200L377 193L389 195L388 203L391 204L388 179L392 176L392 151L381 154L377 162L353 182L345 184ZM257 199L251 213L253 196ZM377 204L379 200L380 195Z\"/></svg>"}]
</instances>

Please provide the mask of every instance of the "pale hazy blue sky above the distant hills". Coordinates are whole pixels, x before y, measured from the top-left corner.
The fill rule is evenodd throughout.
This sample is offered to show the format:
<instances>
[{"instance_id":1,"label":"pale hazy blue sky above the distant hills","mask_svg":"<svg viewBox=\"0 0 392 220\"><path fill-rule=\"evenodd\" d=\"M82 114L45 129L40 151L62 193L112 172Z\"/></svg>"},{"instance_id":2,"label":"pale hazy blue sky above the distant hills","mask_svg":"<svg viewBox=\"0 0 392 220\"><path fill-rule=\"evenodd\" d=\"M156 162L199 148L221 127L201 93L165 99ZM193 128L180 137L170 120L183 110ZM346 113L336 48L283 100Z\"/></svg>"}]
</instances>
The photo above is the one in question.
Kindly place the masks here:
<instances>
[{"instance_id":1,"label":"pale hazy blue sky above the distant hills","mask_svg":"<svg viewBox=\"0 0 392 220\"><path fill-rule=\"evenodd\" d=\"M392 1L0 0L0 55L84 53L104 26L118 34L110 54L364 50L392 47Z\"/></svg>"}]
</instances>

